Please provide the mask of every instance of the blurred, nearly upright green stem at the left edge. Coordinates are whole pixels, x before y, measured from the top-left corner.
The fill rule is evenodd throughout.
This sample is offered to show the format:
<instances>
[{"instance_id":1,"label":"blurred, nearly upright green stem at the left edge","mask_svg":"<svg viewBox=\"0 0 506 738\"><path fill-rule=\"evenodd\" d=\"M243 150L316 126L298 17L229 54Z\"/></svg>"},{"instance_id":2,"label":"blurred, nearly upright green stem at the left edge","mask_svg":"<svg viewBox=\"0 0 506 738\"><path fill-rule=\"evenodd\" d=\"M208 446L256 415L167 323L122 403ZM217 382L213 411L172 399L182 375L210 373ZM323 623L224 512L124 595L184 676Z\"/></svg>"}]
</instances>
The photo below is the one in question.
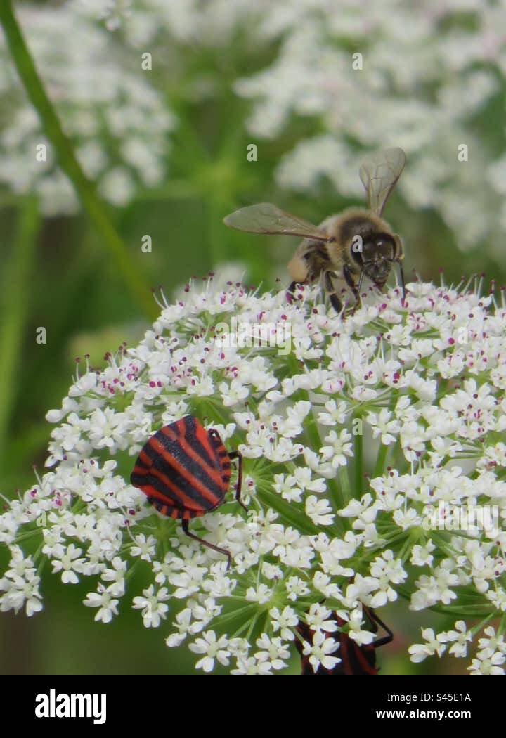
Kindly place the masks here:
<instances>
[{"instance_id":1,"label":"blurred, nearly upright green stem at the left edge","mask_svg":"<svg viewBox=\"0 0 506 738\"><path fill-rule=\"evenodd\" d=\"M7 429L16 396L16 374L24 339L35 246L40 222L35 197L21 201L18 232L4 269L0 323L0 460L3 467ZM35 335L32 337L35 340Z\"/></svg>"}]
</instances>

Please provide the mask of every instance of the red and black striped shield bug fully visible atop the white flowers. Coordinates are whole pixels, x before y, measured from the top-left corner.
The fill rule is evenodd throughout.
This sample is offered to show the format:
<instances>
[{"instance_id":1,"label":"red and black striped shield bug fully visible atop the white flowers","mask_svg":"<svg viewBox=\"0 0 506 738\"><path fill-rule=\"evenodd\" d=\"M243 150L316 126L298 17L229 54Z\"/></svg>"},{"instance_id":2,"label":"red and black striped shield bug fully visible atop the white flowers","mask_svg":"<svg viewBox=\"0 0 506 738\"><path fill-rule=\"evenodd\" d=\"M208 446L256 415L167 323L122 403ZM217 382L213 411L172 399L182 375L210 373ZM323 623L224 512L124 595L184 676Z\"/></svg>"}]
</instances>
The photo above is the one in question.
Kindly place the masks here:
<instances>
[{"instance_id":1,"label":"red and black striped shield bug fully visible atop the white flowers","mask_svg":"<svg viewBox=\"0 0 506 738\"><path fill-rule=\"evenodd\" d=\"M131 483L148 497L160 513L181 520L183 531L207 548L224 554L230 568L232 556L226 548L190 533L188 521L215 510L225 501L230 486L230 461L238 460L235 499L240 499L243 481L242 457L227 451L217 430L206 430L193 415L165 425L142 448L131 473Z\"/></svg>"}]
</instances>

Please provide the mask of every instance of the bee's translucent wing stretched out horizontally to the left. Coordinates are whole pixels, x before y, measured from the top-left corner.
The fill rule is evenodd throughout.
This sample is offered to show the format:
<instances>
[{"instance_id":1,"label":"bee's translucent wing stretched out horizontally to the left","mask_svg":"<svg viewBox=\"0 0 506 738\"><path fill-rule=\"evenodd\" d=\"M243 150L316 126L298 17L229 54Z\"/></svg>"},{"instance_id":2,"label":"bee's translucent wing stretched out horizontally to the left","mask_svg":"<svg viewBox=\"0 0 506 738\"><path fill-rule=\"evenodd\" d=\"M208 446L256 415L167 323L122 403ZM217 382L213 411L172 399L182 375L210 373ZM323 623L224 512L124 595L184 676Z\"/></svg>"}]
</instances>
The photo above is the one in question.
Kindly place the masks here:
<instances>
[{"instance_id":1,"label":"bee's translucent wing stretched out horizontally to the left","mask_svg":"<svg viewBox=\"0 0 506 738\"><path fill-rule=\"evenodd\" d=\"M285 213L271 202L260 202L257 205L241 207L226 218L223 223L229 228L237 228L251 233L282 233L297 235L302 238L315 238L317 241L330 241L330 237L302 218Z\"/></svg>"}]
</instances>

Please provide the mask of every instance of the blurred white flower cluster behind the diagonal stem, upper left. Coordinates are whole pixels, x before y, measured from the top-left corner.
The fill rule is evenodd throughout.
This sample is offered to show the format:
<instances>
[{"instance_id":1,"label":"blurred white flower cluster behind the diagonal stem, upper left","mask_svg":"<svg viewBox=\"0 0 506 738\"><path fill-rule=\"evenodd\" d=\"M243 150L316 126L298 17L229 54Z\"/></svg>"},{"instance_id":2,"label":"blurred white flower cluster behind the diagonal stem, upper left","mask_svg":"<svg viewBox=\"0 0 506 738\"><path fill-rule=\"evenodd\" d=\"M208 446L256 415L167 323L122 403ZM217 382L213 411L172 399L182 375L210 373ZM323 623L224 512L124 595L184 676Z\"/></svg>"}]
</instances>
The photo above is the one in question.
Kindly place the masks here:
<instances>
[{"instance_id":1,"label":"blurred white flower cluster behind the diagonal stem, upper left","mask_svg":"<svg viewBox=\"0 0 506 738\"><path fill-rule=\"evenodd\" d=\"M142 72L140 55L112 44L111 35L72 4L23 4L16 13L77 159L103 197L124 205L139 187L159 184L175 120ZM46 214L77 210L72 185L27 105L3 38L0 107L0 182L15 193L38 193Z\"/></svg>"}]
</instances>

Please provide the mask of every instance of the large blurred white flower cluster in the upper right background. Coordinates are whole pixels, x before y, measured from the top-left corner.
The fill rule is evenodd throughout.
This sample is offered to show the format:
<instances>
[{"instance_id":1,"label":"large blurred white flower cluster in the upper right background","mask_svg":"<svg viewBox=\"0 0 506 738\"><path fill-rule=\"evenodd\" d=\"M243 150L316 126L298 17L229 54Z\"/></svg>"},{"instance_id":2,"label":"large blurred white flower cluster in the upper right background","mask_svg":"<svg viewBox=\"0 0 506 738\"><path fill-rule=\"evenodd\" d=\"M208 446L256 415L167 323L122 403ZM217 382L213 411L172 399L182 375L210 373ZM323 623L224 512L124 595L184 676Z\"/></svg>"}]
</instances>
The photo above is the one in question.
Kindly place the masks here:
<instances>
[{"instance_id":1,"label":"large blurred white flower cluster in the upper right background","mask_svg":"<svg viewBox=\"0 0 506 738\"><path fill-rule=\"evenodd\" d=\"M406 201L437 210L462 249L488 239L499 258L506 139L486 131L502 104L505 12L505 0L272 1L256 32L280 39L280 51L236 91L254 100L254 135L276 137L294 116L317 121L280 163L280 184L313 193L326 176L342 195L362 196L357 144L401 146Z\"/></svg>"}]
</instances>

